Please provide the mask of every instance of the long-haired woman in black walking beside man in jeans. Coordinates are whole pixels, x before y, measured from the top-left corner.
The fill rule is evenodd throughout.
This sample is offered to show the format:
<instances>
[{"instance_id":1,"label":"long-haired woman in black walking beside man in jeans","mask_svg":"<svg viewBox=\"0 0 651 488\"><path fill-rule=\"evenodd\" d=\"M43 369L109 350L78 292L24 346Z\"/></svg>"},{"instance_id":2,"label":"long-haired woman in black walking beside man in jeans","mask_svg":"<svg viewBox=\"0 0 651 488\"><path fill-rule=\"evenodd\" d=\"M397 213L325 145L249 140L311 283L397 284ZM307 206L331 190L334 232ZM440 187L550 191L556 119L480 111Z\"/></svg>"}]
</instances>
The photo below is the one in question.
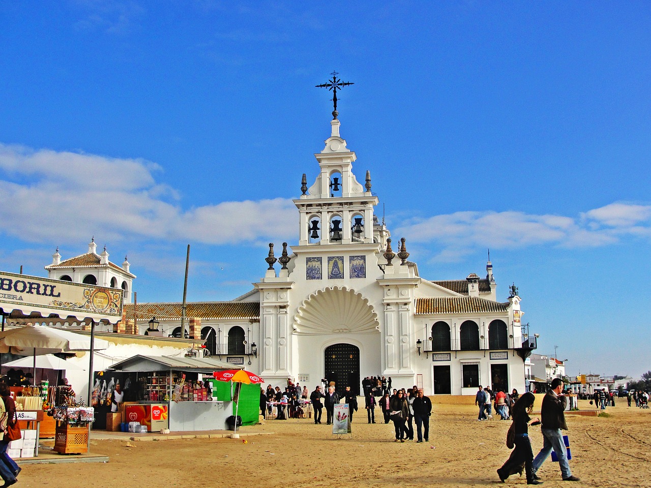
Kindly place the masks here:
<instances>
[{"instance_id":1,"label":"long-haired woman in black walking beside man in jeans","mask_svg":"<svg viewBox=\"0 0 651 488\"><path fill-rule=\"evenodd\" d=\"M525 393L518 398L518 401L513 405L513 429L515 432L515 448L506 463L497 470L499 480L504 483L506 478L516 472L522 472L522 464L525 465L525 473L527 474L527 485L540 485L542 481L534 478L533 472L533 451L531 450L531 441L529 440L529 416L533 411L533 403L536 397L533 393ZM540 419L536 418L533 425L540 424Z\"/></svg>"}]
</instances>

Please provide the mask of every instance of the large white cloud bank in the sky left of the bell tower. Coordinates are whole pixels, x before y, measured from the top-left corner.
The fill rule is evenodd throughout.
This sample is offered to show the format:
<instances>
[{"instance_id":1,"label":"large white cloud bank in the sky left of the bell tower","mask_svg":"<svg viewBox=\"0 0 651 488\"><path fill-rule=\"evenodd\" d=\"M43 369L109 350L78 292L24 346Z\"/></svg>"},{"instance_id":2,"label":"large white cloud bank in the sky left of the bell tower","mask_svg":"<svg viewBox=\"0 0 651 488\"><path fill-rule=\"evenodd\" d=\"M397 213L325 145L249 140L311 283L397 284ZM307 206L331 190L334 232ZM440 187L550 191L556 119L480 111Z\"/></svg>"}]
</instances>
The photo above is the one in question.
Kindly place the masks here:
<instances>
[{"instance_id":1,"label":"large white cloud bank in the sky left of the bell tower","mask_svg":"<svg viewBox=\"0 0 651 488\"><path fill-rule=\"evenodd\" d=\"M143 159L0 144L0 170L0 228L25 241L78 243L101 231L109 240L236 244L287 234L296 223L296 208L281 198L184 210L178 192L156 182L161 168Z\"/></svg>"}]
</instances>

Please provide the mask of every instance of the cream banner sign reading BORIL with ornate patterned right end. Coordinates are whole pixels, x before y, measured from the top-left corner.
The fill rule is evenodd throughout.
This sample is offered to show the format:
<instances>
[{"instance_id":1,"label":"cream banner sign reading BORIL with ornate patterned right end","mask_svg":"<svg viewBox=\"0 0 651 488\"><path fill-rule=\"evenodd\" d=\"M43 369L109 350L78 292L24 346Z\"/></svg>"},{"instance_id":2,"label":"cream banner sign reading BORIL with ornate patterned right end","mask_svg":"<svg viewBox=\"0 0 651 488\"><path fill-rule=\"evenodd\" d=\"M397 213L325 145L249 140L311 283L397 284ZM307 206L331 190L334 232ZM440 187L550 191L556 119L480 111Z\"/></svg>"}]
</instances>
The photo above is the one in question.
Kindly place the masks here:
<instances>
[{"instance_id":1,"label":"cream banner sign reading BORIL with ornate patterned right end","mask_svg":"<svg viewBox=\"0 0 651 488\"><path fill-rule=\"evenodd\" d=\"M0 306L5 312L40 312L83 320L122 318L122 290L0 271Z\"/></svg>"}]
</instances>

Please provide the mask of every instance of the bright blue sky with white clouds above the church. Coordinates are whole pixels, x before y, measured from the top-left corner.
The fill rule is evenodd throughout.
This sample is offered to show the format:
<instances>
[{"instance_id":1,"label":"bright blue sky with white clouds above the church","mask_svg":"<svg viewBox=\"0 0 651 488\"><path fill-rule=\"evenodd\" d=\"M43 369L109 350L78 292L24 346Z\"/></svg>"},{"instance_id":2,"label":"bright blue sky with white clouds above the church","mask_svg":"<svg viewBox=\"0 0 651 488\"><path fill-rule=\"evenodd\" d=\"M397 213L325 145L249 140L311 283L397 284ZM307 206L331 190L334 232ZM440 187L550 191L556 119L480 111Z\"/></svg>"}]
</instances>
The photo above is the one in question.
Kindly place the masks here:
<instances>
[{"instance_id":1,"label":"bright blue sky with white clouds above the church","mask_svg":"<svg viewBox=\"0 0 651 488\"><path fill-rule=\"evenodd\" d=\"M225 300L298 241L341 134L432 280L515 282L568 372L648 362L648 3L0 0L0 269L87 251L139 301Z\"/></svg>"}]
</instances>

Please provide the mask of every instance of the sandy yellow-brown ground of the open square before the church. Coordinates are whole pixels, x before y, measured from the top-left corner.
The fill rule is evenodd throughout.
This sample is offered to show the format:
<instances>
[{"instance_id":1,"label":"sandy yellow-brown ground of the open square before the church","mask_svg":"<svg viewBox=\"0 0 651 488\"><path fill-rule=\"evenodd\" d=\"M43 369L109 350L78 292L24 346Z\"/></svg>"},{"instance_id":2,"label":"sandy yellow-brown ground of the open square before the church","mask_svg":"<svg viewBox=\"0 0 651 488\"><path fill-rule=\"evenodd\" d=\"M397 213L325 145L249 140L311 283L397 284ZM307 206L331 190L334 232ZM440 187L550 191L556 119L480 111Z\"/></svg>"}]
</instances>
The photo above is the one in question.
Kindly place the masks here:
<instances>
[{"instance_id":1,"label":"sandy yellow-brown ground of the open square before the church","mask_svg":"<svg viewBox=\"0 0 651 488\"><path fill-rule=\"evenodd\" d=\"M544 486L651 487L651 410L625 403L609 408L608 417L567 416L570 467L581 481L562 481L550 458L538 472ZM590 409L587 401L579 401L579 407ZM324 411L320 426L311 419L268 420L242 432L272 434L242 439L92 441L92 452L109 455L109 463L25 465L16 487L526 484L517 475L499 483L495 469L509 455L505 436L510 422L478 422L474 405L434 405L430 442L422 444L393 442L393 424L369 425L365 413L359 413L352 439L333 436ZM540 430L532 427L530 435L536 454L542 446Z\"/></svg>"}]
</instances>

